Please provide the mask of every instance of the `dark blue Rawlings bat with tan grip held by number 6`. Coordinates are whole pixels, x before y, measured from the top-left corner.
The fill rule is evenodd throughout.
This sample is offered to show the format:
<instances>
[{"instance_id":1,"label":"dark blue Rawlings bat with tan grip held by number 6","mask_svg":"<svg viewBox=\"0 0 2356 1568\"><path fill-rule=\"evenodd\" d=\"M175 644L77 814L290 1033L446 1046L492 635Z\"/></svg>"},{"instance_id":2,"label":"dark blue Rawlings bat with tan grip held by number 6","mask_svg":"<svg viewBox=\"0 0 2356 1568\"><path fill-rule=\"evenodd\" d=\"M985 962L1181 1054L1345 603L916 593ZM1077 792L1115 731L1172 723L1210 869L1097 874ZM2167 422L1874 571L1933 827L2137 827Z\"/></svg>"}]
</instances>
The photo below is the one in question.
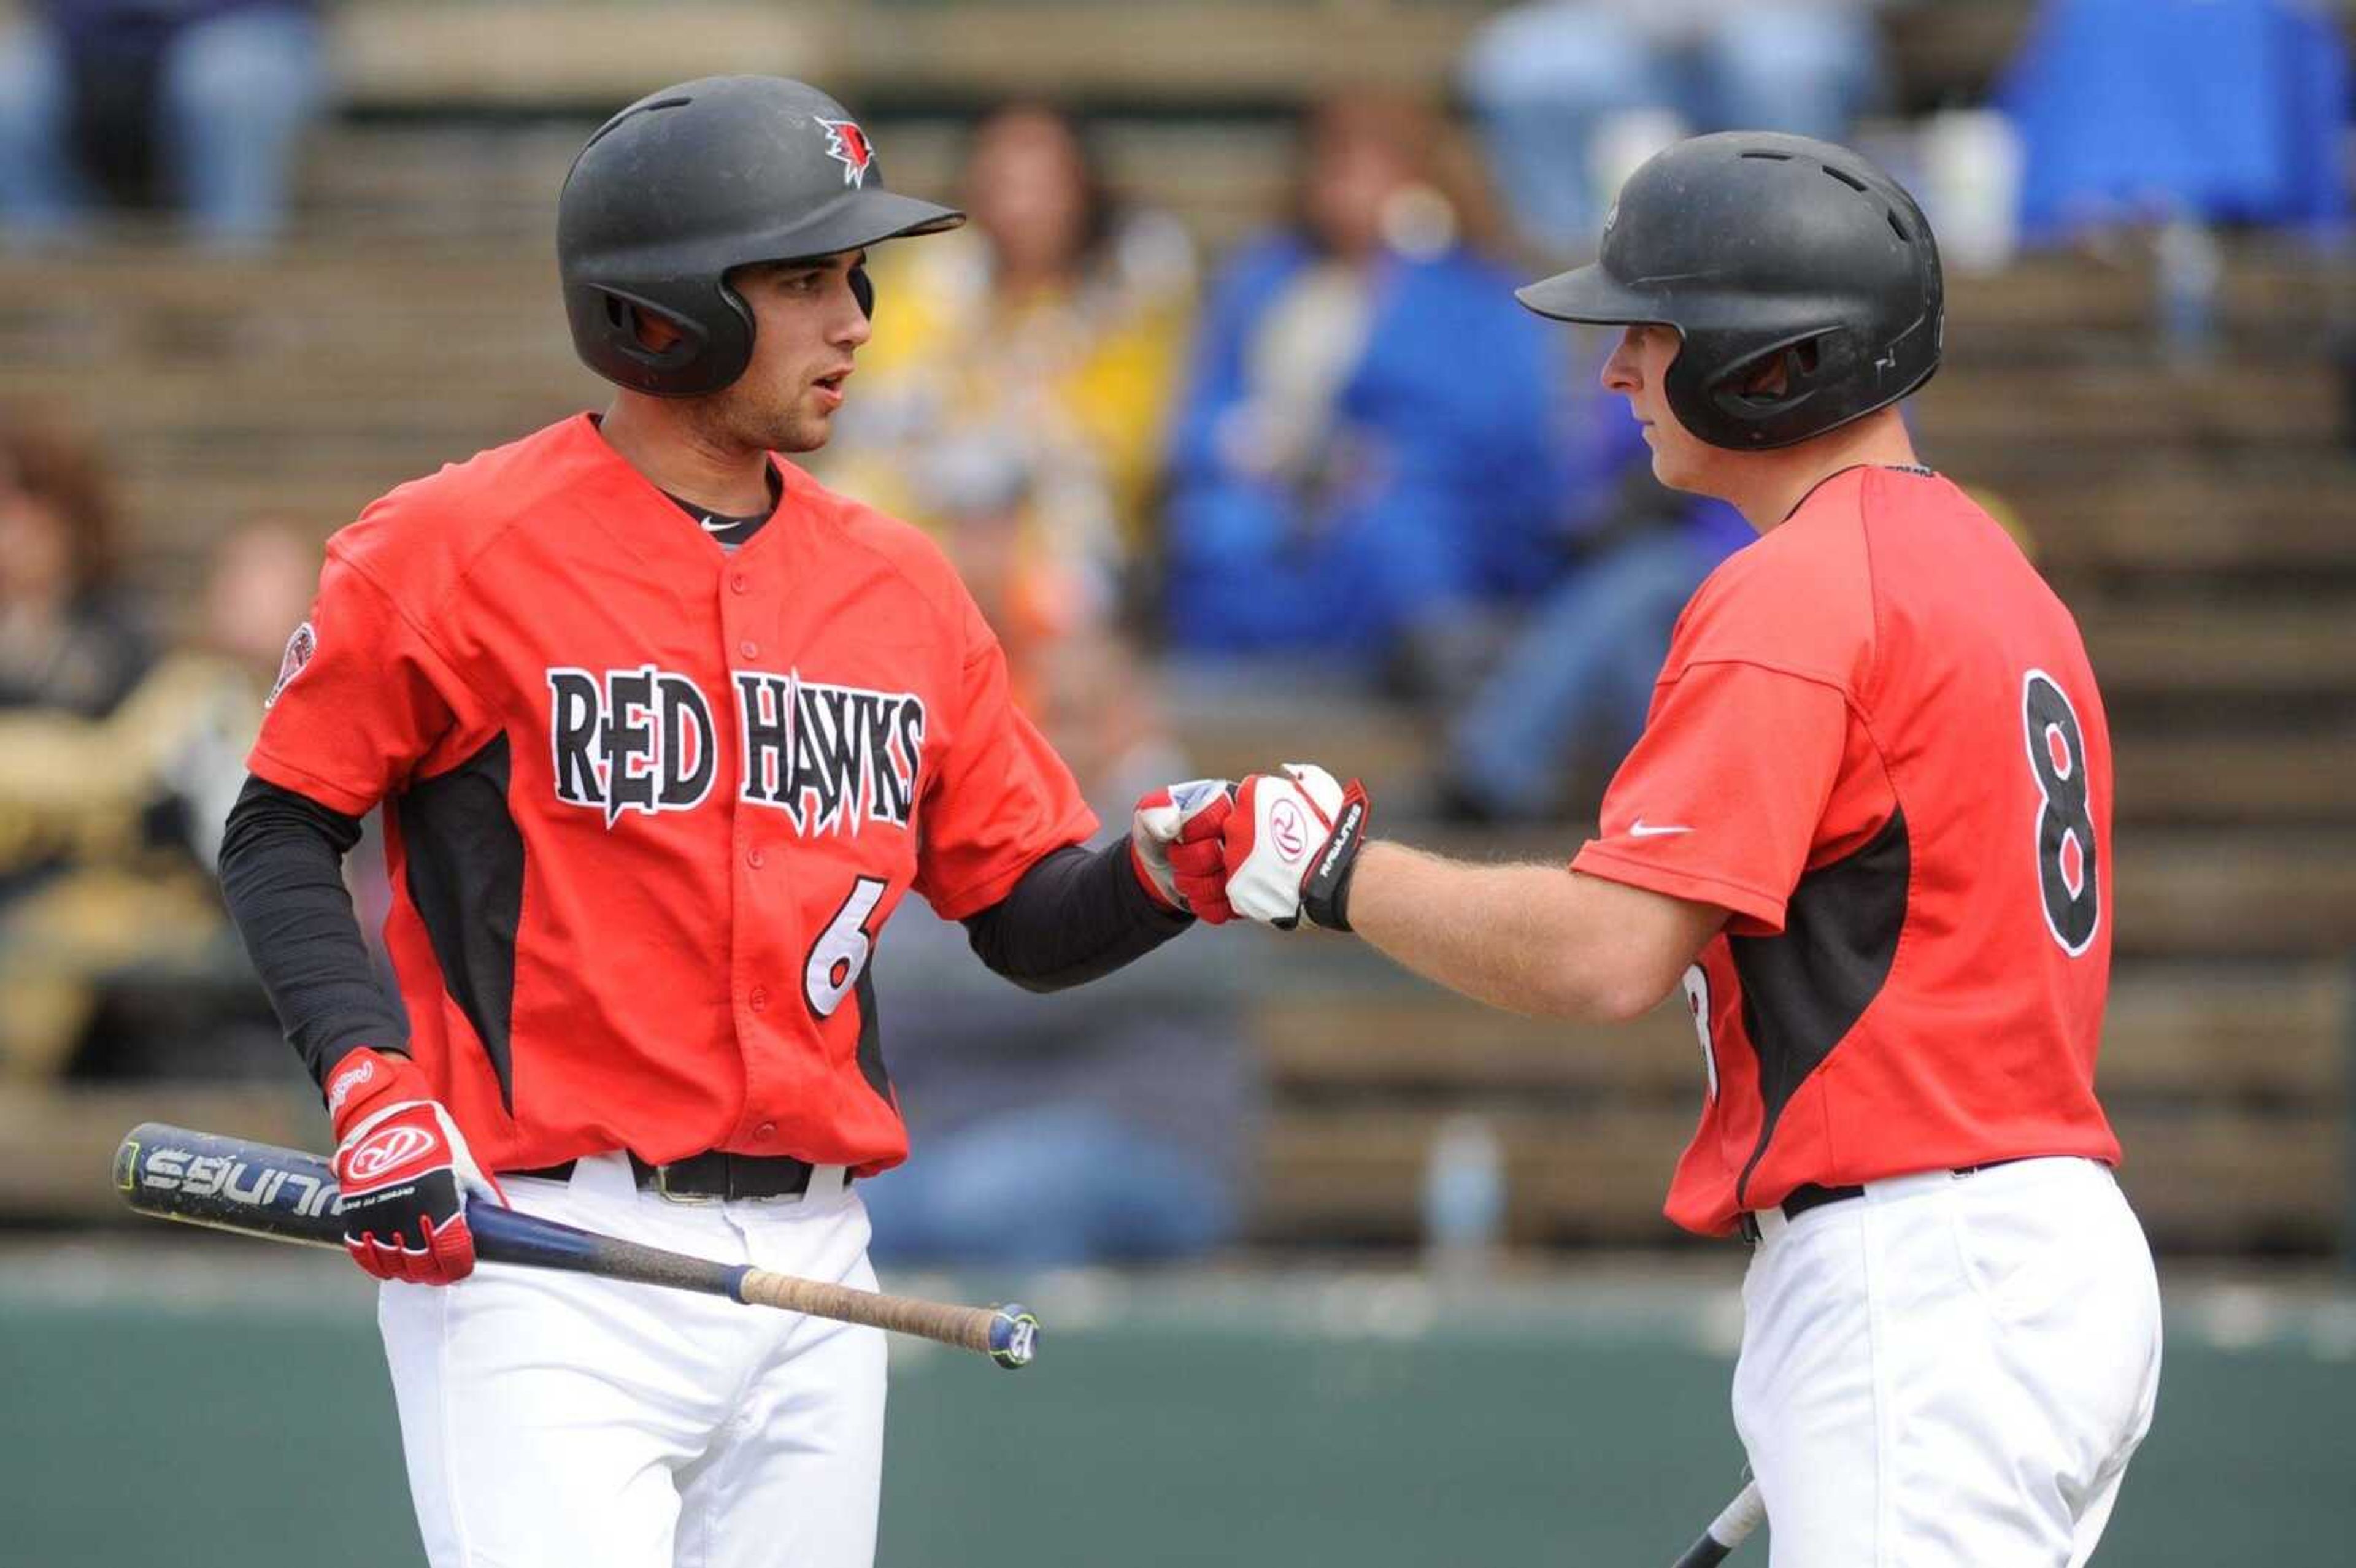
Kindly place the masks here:
<instances>
[{"instance_id":1,"label":"dark blue Rawlings bat with tan grip held by number 6","mask_svg":"<svg viewBox=\"0 0 2356 1568\"><path fill-rule=\"evenodd\" d=\"M115 1149L115 1187L123 1191L123 1201L141 1215L269 1241L316 1248L344 1245L335 1168L302 1149L252 1144L148 1121L132 1128ZM1039 1354L1039 1318L1015 1302L949 1307L905 1295L853 1290L747 1264L667 1253L620 1236L598 1236L497 1203L469 1203L466 1229L474 1231L474 1255L483 1262L568 1269L671 1290L726 1295L747 1307L782 1307L813 1318L938 1340L990 1356L1004 1368L1030 1366L1032 1356Z\"/></svg>"}]
</instances>

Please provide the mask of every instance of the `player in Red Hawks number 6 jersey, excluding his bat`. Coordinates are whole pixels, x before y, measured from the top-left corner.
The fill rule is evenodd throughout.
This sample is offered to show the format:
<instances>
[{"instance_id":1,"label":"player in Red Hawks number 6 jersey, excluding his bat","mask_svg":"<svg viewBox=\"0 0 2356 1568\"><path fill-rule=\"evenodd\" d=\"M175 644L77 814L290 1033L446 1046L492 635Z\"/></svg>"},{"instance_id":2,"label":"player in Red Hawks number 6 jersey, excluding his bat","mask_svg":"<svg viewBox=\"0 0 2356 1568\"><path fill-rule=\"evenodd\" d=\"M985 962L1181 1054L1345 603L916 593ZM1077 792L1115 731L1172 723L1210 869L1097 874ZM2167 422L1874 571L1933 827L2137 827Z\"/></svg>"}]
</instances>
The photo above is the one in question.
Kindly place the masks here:
<instances>
[{"instance_id":1,"label":"player in Red Hawks number 6 jersey, excluding his bat","mask_svg":"<svg viewBox=\"0 0 2356 1568\"><path fill-rule=\"evenodd\" d=\"M907 1154L869 989L900 899L1060 989L1218 888L1216 845L1171 864L1218 782L1081 848L940 551L775 457L846 398L865 247L957 221L801 82L622 111L558 210L613 405L372 504L287 647L221 881L335 1118L346 1245L391 1281L443 1568L865 1568L881 1335L476 1271L466 1205L872 1288L851 1182ZM408 1026L339 881L377 805Z\"/></svg>"}]
</instances>

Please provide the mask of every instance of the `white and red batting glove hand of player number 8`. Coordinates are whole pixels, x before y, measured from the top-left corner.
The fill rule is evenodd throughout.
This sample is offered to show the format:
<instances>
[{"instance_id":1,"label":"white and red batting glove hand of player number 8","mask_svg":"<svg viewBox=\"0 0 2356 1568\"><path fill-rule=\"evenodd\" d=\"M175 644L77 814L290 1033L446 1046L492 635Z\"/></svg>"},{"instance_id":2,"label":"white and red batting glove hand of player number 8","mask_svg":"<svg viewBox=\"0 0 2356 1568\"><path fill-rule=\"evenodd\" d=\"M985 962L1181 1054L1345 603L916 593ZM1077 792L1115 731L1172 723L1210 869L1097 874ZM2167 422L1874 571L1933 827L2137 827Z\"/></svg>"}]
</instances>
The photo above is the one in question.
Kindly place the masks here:
<instances>
[{"instance_id":1,"label":"white and red batting glove hand of player number 8","mask_svg":"<svg viewBox=\"0 0 2356 1568\"><path fill-rule=\"evenodd\" d=\"M1310 763L1244 779L1220 829L1235 913L1279 930L1308 913L1326 930L1350 930L1350 871L1371 812L1364 784L1338 784Z\"/></svg>"}]
</instances>

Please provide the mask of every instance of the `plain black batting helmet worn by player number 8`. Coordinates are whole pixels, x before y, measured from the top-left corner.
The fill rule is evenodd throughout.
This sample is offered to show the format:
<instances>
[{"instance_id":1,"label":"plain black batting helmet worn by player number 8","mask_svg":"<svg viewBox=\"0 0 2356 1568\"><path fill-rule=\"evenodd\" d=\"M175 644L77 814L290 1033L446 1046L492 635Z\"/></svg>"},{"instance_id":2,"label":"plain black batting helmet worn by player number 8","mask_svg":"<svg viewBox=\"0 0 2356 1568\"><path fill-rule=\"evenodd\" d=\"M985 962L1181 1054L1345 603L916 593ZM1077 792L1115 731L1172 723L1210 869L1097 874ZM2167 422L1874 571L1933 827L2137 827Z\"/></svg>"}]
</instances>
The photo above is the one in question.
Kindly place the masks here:
<instances>
[{"instance_id":1,"label":"plain black batting helmet worn by player number 8","mask_svg":"<svg viewBox=\"0 0 2356 1568\"><path fill-rule=\"evenodd\" d=\"M1621 186L1602 257L1517 299L1538 315L1666 325L1668 405L1713 447L1788 447L1930 381L1939 242L1899 181L1831 141L1722 132ZM1783 363L1779 391L1743 391Z\"/></svg>"}]
</instances>

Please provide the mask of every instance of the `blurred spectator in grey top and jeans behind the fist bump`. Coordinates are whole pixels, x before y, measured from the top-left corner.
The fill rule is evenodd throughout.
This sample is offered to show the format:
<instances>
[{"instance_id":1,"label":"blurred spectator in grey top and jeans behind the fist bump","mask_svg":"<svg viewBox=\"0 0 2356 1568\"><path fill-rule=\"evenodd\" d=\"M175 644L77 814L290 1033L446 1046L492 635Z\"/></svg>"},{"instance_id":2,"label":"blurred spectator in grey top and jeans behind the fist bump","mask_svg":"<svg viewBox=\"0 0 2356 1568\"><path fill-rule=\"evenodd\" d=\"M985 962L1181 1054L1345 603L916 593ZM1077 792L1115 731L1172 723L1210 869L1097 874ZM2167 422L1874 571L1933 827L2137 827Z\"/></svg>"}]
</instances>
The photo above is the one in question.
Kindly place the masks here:
<instances>
[{"instance_id":1,"label":"blurred spectator in grey top and jeans behind the fist bump","mask_svg":"<svg viewBox=\"0 0 2356 1568\"><path fill-rule=\"evenodd\" d=\"M1187 775L1114 633L1058 643L1041 695L1039 720L1107 829ZM1232 1238L1260 1111L1239 991L1227 946L1173 942L1032 996L973 963L961 928L902 909L876 994L912 1156L860 1182L876 1260L1152 1262Z\"/></svg>"}]
</instances>

